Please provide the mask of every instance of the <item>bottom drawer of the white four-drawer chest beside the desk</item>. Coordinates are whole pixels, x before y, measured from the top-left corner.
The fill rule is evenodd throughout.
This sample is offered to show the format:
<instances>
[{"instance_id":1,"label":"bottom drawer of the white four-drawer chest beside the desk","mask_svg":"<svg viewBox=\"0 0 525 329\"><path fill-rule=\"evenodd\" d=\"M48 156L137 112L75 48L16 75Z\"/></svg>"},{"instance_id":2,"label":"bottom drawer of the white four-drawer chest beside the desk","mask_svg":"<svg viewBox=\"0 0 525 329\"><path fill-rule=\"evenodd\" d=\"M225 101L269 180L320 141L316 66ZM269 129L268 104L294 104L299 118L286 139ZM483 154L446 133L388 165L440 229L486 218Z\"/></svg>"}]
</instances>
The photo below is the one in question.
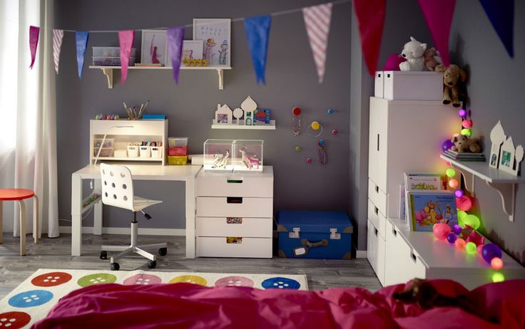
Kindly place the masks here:
<instances>
[{"instance_id":1,"label":"bottom drawer of the white four-drawer chest beside the desk","mask_svg":"<svg viewBox=\"0 0 525 329\"><path fill-rule=\"evenodd\" d=\"M198 257L272 258L271 238L241 238L228 244L226 237L197 236Z\"/></svg>"}]
</instances>

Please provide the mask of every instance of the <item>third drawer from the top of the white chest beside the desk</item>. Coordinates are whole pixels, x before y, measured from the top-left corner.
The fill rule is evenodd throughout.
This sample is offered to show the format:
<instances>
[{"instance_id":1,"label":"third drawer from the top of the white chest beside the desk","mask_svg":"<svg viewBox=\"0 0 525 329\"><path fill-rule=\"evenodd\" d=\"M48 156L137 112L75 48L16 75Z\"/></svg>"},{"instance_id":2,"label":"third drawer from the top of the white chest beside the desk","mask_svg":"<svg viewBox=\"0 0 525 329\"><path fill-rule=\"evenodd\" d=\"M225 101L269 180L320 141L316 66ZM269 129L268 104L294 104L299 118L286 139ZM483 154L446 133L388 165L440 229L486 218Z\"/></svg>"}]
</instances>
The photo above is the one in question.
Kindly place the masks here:
<instances>
[{"instance_id":1,"label":"third drawer from the top of the white chest beside the desk","mask_svg":"<svg viewBox=\"0 0 525 329\"><path fill-rule=\"evenodd\" d=\"M197 236L246 236L271 238L271 218L197 217Z\"/></svg>"}]
</instances>

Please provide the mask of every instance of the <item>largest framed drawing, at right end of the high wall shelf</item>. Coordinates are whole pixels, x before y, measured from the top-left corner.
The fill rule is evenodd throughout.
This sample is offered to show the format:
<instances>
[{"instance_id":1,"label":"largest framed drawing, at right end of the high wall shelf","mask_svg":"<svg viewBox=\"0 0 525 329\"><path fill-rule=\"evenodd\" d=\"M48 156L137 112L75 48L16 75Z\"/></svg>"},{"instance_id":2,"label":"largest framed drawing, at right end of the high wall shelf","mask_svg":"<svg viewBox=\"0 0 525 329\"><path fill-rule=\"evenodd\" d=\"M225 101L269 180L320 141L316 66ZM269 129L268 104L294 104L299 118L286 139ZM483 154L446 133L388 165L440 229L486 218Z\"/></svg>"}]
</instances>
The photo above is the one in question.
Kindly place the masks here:
<instances>
[{"instance_id":1,"label":"largest framed drawing, at right end of the high wall shelf","mask_svg":"<svg viewBox=\"0 0 525 329\"><path fill-rule=\"evenodd\" d=\"M208 66L231 66L231 19L193 19L193 40L203 41Z\"/></svg>"}]
</instances>

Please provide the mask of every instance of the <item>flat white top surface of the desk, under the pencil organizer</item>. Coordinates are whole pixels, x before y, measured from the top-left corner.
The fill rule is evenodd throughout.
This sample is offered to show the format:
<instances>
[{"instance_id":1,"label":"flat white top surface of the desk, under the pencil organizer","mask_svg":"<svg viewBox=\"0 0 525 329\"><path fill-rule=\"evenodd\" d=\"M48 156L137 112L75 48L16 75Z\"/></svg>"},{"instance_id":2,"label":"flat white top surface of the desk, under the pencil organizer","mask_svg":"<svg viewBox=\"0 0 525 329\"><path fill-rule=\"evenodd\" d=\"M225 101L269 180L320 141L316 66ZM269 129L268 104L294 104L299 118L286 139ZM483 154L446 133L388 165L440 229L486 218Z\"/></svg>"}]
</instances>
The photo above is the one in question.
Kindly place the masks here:
<instances>
[{"instance_id":1,"label":"flat white top surface of the desk, under the pencil organizer","mask_svg":"<svg viewBox=\"0 0 525 329\"><path fill-rule=\"evenodd\" d=\"M133 179L138 180L185 180L195 178L200 165L187 164L185 166L161 166L159 164L128 164L126 162L118 163L131 170ZM97 179L101 177L100 167L87 165L82 169L73 172L73 175L79 175L82 179Z\"/></svg>"}]
</instances>

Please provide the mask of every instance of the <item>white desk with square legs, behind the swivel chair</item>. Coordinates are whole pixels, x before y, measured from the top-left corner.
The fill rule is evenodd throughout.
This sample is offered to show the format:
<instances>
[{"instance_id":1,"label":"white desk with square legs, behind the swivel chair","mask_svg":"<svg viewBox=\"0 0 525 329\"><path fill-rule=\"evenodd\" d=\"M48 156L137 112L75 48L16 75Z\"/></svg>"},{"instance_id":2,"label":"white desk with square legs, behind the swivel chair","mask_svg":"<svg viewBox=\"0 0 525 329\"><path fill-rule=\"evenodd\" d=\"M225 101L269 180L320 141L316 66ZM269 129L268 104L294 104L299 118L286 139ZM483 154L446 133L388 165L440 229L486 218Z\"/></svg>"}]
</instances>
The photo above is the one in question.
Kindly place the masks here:
<instances>
[{"instance_id":1,"label":"white desk with square legs, behind the swivel chair","mask_svg":"<svg viewBox=\"0 0 525 329\"><path fill-rule=\"evenodd\" d=\"M201 166L160 166L158 164L126 164L134 180L171 180L186 186L186 258L195 258L195 176ZM82 179L94 179L95 189L101 191L100 168L87 165L71 174L71 256L82 254ZM102 202L94 207L93 234L102 234ZM85 210L85 209L84 209Z\"/></svg>"}]
</instances>

